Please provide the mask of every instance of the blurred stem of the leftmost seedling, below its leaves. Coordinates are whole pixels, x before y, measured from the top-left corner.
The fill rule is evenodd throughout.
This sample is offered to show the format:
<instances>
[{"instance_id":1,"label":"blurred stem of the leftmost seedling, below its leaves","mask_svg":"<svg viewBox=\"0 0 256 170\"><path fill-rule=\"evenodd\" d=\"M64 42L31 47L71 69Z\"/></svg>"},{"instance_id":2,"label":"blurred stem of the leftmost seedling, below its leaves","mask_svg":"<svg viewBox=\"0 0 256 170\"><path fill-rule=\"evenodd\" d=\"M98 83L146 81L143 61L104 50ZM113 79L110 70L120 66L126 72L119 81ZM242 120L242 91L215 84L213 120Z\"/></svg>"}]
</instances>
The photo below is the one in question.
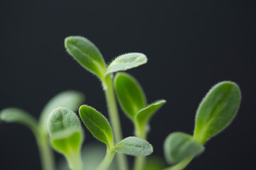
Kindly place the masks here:
<instances>
[{"instance_id":1,"label":"blurred stem of the leftmost seedling, below its leaves","mask_svg":"<svg viewBox=\"0 0 256 170\"><path fill-rule=\"evenodd\" d=\"M40 132L37 132L37 133L40 133ZM50 148L47 135L35 134L35 136L36 136L36 142L39 149L42 169L54 170L55 164L54 164L53 150Z\"/></svg>"}]
</instances>

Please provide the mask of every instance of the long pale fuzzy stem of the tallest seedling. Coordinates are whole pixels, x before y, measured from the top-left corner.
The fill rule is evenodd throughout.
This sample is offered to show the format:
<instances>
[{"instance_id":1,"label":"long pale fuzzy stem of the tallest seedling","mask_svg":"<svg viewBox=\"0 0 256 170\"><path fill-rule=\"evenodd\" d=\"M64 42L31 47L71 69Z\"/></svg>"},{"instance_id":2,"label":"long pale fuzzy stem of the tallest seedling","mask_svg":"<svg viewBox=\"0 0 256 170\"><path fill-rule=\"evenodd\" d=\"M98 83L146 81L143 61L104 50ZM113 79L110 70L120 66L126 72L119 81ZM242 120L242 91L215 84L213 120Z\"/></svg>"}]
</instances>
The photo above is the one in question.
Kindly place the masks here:
<instances>
[{"instance_id":1,"label":"long pale fuzzy stem of the tallest seedling","mask_svg":"<svg viewBox=\"0 0 256 170\"><path fill-rule=\"evenodd\" d=\"M110 75L107 75L105 78L105 96L107 100L107 110L110 117L110 123L114 132L115 142L122 140L122 128L119 120L119 114L117 110L117 103L114 96L114 90L112 86L112 79ZM127 158L124 154L117 153L117 163L119 170L128 170Z\"/></svg>"}]
</instances>

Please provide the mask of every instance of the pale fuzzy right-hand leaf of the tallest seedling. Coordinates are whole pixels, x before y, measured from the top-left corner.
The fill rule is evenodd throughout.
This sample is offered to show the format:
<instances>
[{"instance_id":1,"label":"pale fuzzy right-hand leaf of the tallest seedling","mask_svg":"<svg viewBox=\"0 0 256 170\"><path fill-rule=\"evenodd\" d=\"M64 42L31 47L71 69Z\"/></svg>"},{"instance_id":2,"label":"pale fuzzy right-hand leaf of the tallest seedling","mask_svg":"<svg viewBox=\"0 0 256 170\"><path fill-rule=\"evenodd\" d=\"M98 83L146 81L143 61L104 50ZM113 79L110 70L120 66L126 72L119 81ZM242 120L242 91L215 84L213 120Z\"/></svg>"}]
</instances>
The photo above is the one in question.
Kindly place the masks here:
<instances>
[{"instance_id":1,"label":"pale fuzzy right-hand leaf of the tallest seedling","mask_svg":"<svg viewBox=\"0 0 256 170\"><path fill-rule=\"evenodd\" d=\"M142 64L145 64L146 62L147 62L146 55L139 52L131 52L124 55L119 55L107 67L107 72L105 75L113 72L132 69L134 67L138 67Z\"/></svg>"}]
</instances>

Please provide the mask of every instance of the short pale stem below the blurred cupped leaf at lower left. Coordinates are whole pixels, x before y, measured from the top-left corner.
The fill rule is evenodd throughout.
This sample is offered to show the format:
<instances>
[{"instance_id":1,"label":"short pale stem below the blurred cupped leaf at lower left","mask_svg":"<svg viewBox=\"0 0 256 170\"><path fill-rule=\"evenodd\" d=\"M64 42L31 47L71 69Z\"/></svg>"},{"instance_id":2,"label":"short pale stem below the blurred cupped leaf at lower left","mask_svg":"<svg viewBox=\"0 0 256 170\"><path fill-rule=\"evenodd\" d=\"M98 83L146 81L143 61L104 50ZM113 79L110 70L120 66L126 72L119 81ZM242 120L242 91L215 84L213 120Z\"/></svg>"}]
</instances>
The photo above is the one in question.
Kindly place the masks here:
<instances>
[{"instance_id":1,"label":"short pale stem below the blurred cupped leaf at lower left","mask_svg":"<svg viewBox=\"0 0 256 170\"><path fill-rule=\"evenodd\" d=\"M70 150L67 155L68 164L72 170L82 170L82 160L80 155L80 149Z\"/></svg>"}]
</instances>

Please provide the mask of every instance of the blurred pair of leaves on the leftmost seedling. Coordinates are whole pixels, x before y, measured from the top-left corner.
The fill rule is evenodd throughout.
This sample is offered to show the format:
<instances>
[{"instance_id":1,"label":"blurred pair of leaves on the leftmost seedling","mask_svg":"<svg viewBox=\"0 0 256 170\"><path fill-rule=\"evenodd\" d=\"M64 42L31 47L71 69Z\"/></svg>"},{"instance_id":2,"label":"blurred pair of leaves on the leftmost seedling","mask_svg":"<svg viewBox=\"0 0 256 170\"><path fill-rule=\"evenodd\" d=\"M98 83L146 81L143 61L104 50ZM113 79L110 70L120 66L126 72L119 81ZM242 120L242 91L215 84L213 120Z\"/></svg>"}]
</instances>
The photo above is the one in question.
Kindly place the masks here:
<instances>
[{"instance_id":1,"label":"blurred pair of leaves on the leftmost seedling","mask_svg":"<svg viewBox=\"0 0 256 170\"><path fill-rule=\"evenodd\" d=\"M26 113L26 111L22 111L19 108L3 109L0 112L0 120L7 123L20 123L22 125L26 125L35 135L38 135L38 132L43 135L47 135L46 121L48 115L53 111L53 109L59 106L65 106L75 111L84 100L85 96L78 91L63 91L48 101L46 106L43 108L39 123L35 118Z\"/></svg>"}]
</instances>

